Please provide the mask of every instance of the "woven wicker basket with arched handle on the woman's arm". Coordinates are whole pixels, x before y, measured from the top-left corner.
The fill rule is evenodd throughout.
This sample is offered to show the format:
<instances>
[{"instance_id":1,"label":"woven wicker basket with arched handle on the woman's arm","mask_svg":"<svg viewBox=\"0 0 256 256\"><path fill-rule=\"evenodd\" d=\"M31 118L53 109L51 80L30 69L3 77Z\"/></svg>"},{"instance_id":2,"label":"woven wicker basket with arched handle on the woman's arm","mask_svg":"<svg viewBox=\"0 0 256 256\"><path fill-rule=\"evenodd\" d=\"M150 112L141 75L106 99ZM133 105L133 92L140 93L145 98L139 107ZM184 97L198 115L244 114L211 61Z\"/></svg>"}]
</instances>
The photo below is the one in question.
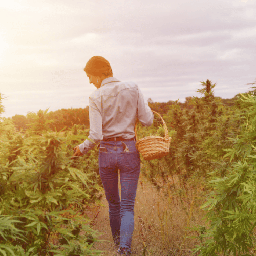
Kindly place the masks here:
<instances>
[{"instance_id":1,"label":"woven wicker basket with arched handle on the woman's arm","mask_svg":"<svg viewBox=\"0 0 256 256\"><path fill-rule=\"evenodd\" d=\"M152 111L153 113L160 116L157 112ZM135 124L135 138L136 138L136 147L137 150L142 154L143 158L145 160L152 160L152 159L158 159L161 157L164 157L168 155L169 148L170 148L170 140L169 133L167 130L166 123L164 122L163 118L160 116L163 125L164 125L164 138L160 136L149 136L142 139L137 139L137 124L138 120Z\"/></svg>"}]
</instances>

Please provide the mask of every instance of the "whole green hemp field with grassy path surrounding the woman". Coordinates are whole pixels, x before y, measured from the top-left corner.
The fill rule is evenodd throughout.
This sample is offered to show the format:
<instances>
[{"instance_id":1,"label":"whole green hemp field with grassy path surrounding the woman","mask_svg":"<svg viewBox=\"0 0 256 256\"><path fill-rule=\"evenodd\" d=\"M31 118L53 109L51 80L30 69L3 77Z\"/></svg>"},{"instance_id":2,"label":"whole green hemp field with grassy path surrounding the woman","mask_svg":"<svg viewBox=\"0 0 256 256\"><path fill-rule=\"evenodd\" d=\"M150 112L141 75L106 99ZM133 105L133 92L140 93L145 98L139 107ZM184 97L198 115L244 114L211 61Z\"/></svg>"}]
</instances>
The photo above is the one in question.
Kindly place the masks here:
<instances>
[{"instance_id":1,"label":"whole green hemp field with grassy path surrounding the woman","mask_svg":"<svg viewBox=\"0 0 256 256\"><path fill-rule=\"evenodd\" d=\"M141 157L134 255L256 255L256 88L229 101L202 86L184 104L148 102L172 142ZM0 256L116 254L98 149L72 158L89 133L79 111L0 118ZM165 134L158 117L137 129Z\"/></svg>"}]
</instances>

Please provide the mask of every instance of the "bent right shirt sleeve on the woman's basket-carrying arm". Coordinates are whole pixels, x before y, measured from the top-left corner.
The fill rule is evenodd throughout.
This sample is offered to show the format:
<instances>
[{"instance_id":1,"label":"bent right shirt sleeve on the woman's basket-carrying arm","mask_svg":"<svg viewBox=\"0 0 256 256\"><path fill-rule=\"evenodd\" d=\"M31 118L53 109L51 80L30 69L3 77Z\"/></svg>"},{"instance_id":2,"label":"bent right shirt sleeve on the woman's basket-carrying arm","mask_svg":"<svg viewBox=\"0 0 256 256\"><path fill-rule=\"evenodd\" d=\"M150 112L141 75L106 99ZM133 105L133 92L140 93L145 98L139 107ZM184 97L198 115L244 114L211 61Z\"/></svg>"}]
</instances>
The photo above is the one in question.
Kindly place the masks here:
<instances>
[{"instance_id":1,"label":"bent right shirt sleeve on the woman's basket-carrying arm","mask_svg":"<svg viewBox=\"0 0 256 256\"><path fill-rule=\"evenodd\" d=\"M151 111L151 108L148 106L148 103L144 101L143 94L139 88L138 88L138 91L139 91L138 103L137 103L138 119L143 125L150 126L154 120L153 112Z\"/></svg>"}]
</instances>

